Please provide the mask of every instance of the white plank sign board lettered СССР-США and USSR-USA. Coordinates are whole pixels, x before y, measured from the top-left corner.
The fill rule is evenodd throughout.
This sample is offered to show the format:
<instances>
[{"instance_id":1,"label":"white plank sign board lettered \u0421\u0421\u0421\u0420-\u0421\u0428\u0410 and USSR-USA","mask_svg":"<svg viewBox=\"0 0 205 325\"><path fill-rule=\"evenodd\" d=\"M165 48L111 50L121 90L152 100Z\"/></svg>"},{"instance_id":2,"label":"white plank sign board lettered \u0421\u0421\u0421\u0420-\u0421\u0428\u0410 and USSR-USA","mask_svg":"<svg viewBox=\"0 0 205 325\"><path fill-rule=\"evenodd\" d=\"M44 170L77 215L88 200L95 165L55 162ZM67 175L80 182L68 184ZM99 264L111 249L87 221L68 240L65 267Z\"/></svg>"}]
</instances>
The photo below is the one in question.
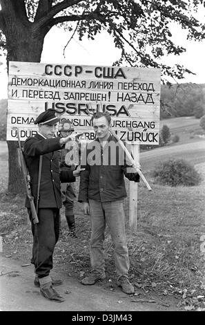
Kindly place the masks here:
<instances>
[{"instance_id":1,"label":"white plank sign board lettered \u0421\u0421\u0421\u0420-\u0421\u0428\u0410 and USSR-USA","mask_svg":"<svg viewBox=\"0 0 205 325\"><path fill-rule=\"evenodd\" d=\"M121 140L159 144L161 71L157 68L10 62L7 140L34 136L37 115L55 109L95 139L90 118L107 110Z\"/></svg>"}]
</instances>

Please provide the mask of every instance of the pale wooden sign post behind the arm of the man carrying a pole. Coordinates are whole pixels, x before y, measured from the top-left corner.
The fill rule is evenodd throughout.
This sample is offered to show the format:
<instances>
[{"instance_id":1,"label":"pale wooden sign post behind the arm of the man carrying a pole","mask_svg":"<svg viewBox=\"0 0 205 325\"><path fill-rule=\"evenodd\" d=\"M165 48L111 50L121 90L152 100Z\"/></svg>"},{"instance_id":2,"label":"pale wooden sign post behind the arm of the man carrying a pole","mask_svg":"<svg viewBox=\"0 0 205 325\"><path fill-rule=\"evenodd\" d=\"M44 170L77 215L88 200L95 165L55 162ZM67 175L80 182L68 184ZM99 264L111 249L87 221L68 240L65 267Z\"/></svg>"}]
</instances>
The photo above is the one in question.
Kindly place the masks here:
<instances>
[{"instance_id":1,"label":"pale wooden sign post behind the arm of the man carrying a pole","mask_svg":"<svg viewBox=\"0 0 205 325\"><path fill-rule=\"evenodd\" d=\"M136 163L139 163L139 144L132 144L131 151ZM130 181L130 201L129 201L129 225L137 231L137 189L138 183Z\"/></svg>"}]
</instances>

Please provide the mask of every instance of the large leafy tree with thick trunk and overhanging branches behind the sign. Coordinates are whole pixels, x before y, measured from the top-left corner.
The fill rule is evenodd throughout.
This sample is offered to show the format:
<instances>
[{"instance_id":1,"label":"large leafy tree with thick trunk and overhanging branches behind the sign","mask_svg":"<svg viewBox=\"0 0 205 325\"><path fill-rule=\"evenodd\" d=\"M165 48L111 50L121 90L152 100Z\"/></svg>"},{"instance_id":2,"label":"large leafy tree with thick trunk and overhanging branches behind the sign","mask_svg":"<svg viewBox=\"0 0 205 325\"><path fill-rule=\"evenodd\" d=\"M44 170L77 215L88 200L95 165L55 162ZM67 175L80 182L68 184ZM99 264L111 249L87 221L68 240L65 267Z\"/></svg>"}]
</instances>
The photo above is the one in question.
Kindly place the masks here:
<instances>
[{"instance_id":1,"label":"large leafy tree with thick trunk and overhanging branches behind the sign","mask_svg":"<svg viewBox=\"0 0 205 325\"><path fill-rule=\"evenodd\" d=\"M182 79L183 66L159 64L164 55L185 51L172 41L170 23L186 29L189 39L204 38L204 26L194 17L200 0L0 0L0 46L7 62L40 62L43 40L55 25L65 25L79 39L94 39L101 30L113 36L121 58L115 65L160 67L162 74ZM17 142L8 141L8 192L22 192Z\"/></svg>"}]
</instances>

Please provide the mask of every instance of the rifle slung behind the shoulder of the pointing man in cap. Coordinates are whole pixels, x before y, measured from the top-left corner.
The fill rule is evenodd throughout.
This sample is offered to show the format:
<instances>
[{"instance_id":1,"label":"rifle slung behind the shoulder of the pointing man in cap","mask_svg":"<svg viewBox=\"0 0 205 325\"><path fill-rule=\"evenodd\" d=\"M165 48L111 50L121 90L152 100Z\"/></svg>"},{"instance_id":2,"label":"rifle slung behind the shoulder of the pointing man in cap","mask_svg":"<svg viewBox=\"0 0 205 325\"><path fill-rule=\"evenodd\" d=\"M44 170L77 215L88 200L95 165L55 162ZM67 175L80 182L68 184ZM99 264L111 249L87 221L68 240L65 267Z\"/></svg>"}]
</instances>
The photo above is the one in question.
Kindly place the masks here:
<instances>
[{"instance_id":1,"label":"rifle slung behind the shoulder of the pointing man in cap","mask_svg":"<svg viewBox=\"0 0 205 325\"><path fill-rule=\"evenodd\" d=\"M30 175L28 173L28 168L26 166L26 160L23 154L23 150L21 148L21 140L19 136L19 129L17 129L17 138L19 142L19 158L20 158L20 163L21 163L21 170L23 174L23 180L26 186L26 194L28 196L29 202L30 202L30 210L32 214L32 220L33 223L39 223L39 219L37 216L37 210L35 208L35 203L34 203L34 197L32 196L31 188L30 188Z\"/></svg>"}]
</instances>

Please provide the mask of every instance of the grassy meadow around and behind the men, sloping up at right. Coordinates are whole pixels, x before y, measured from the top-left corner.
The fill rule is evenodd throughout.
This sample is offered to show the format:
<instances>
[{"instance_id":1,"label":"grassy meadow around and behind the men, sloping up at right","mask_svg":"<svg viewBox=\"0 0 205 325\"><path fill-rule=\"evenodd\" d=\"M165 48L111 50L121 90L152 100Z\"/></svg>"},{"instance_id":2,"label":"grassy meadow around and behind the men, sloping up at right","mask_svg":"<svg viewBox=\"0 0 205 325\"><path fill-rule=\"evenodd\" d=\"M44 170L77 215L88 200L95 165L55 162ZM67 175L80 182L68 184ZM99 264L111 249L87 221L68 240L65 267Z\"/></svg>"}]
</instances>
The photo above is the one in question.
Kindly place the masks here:
<instances>
[{"instance_id":1,"label":"grassy meadow around and behind the men, sloping up at right","mask_svg":"<svg viewBox=\"0 0 205 325\"><path fill-rule=\"evenodd\" d=\"M173 119L174 120L174 119ZM183 125L180 133L193 132L191 120L180 118L173 123L175 129ZM177 123L176 123L177 122ZM195 122L195 120L194 120ZM7 147L0 142L0 234L3 234L4 252L14 259L30 261L32 236L24 198L6 194L8 177ZM144 174L153 188L148 192L144 183L138 186L137 232L128 226L129 196L124 201L126 230L130 254L130 279L141 297L162 297L168 303L184 310L203 310L204 295L204 253L200 251L205 234L205 155L204 140L189 138L186 142L145 151L140 154ZM202 175L202 183L195 187L169 187L157 185L151 176L155 163L169 156L189 160ZM126 187L128 187L126 181ZM65 270L80 279L90 268L89 239L90 221L84 216L81 205L76 203L77 239L68 237L64 211L61 211L63 233L55 249L57 268ZM201 246L202 247L202 246ZM106 232L106 269L110 290L115 288L115 266L113 247ZM113 286L113 287L112 287Z\"/></svg>"}]
</instances>

